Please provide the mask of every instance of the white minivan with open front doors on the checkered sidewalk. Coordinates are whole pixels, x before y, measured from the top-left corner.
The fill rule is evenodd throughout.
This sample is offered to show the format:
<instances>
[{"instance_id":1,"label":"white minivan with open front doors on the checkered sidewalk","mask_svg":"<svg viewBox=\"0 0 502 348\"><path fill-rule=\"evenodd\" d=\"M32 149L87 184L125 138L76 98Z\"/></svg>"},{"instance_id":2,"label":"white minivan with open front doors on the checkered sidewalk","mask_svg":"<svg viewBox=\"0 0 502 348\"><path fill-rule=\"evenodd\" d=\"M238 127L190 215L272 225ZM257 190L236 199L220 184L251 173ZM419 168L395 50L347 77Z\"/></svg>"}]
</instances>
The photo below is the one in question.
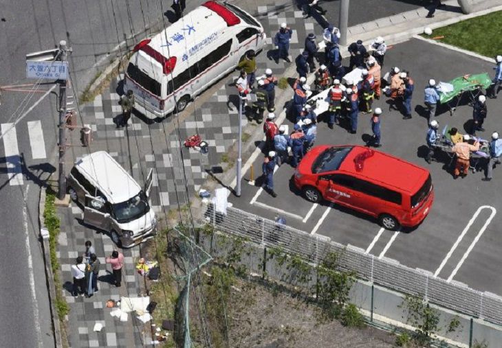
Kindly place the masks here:
<instances>
[{"instance_id":1,"label":"white minivan with open front doors on the checkered sidewalk","mask_svg":"<svg viewBox=\"0 0 502 348\"><path fill-rule=\"evenodd\" d=\"M149 204L153 170L144 188L105 151L76 161L67 177L67 190L84 207L84 222L107 231L118 246L139 244L157 232Z\"/></svg>"}]
</instances>

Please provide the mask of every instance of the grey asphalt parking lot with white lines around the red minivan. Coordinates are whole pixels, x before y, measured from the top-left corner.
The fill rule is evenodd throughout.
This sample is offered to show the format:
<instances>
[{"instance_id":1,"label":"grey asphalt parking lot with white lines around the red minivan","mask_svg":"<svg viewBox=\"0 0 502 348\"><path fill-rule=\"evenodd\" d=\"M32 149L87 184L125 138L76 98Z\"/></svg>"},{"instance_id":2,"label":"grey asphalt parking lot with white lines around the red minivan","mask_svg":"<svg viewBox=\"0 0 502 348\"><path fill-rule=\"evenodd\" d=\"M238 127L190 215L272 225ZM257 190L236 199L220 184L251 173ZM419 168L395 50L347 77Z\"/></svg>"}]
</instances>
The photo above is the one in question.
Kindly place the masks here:
<instances>
[{"instance_id":1,"label":"grey asphalt parking lot with white lines around the red minivan","mask_svg":"<svg viewBox=\"0 0 502 348\"><path fill-rule=\"evenodd\" d=\"M499 233L501 213L497 210L501 207L501 198L497 192L502 188L502 171L496 168L491 182L481 181L483 172L470 172L466 178L454 180L447 156L428 165L424 160L427 119L421 107L424 86L429 78L446 82L468 73L488 72L492 76L494 64L412 39L389 49L382 75L394 66L411 72L415 81L415 112L412 119L404 120L399 112L389 111L386 98L375 101L373 108L380 106L383 110L382 148L379 150L430 170L435 202L419 227L411 231L386 231L373 218L349 209L329 202L314 205L305 200L292 184L293 169L290 165L276 167L274 190L277 198L259 188L260 180L254 186L243 180L241 197L230 196L230 202L234 207L267 218L284 216L292 227L327 235L336 242L361 248L377 257L395 259L438 277L466 283L474 289L500 293L502 277L498 267L502 261L499 252L502 237ZM497 112L502 106L501 99L488 99L487 104L486 131L477 133L483 139L490 139L492 131L501 130ZM466 103L461 103L452 116L446 109L440 108L436 117L439 130L448 124L463 134L466 133L466 122L471 118L472 107ZM292 128L291 121L285 120L285 123ZM351 135L337 126L329 130L327 124L320 120L316 145L364 144L362 139L371 134L370 115L360 113L358 124L357 134ZM261 174L262 161L262 155L254 161L255 178ZM250 172L244 174L245 179L249 176Z\"/></svg>"}]
</instances>

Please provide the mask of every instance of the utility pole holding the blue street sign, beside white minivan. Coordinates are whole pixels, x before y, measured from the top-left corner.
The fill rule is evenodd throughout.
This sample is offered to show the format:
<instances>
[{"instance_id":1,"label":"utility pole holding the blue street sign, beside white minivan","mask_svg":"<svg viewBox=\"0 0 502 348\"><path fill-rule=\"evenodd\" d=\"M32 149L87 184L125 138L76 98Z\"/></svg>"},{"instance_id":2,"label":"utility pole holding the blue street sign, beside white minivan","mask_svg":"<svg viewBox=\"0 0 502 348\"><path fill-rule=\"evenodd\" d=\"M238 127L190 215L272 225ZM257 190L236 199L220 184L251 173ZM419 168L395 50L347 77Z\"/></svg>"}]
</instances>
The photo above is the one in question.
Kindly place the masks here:
<instances>
[{"instance_id":1,"label":"utility pole holding the blue street sign, beside white minivan","mask_svg":"<svg viewBox=\"0 0 502 348\"><path fill-rule=\"evenodd\" d=\"M66 41L59 41L59 60L67 61ZM66 174L65 174L65 154L66 154L66 80L59 80L59 178L58 178L58 198L63 200L66 195Z\"/></svg>"}]
</instances>

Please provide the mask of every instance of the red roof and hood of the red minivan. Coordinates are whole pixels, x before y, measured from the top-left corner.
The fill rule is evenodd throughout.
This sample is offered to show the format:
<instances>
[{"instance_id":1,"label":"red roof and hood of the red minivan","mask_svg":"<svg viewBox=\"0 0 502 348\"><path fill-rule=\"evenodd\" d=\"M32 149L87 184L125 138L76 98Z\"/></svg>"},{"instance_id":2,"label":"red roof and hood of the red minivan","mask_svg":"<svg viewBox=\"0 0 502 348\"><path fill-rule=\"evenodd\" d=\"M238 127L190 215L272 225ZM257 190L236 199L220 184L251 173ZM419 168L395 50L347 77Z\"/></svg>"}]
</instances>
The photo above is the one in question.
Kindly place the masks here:
<instances>
[{"instance_id":1,"label":"red roof and hood of the red minivan","mask_svg":"<svg viewBox=\"0 0 502 348\"><path fill-rule=\"evenodd\" d=\"M300 172L312 173L312 163L314 163L321 152L331 147L333 146L316 146L310 150L300 162L298 170ZM336 147L347 147L347 145ZM373 154L369 154L369 151L373 152ZM365 156L365 154L367 155ZM356 163L354 160L359 163ZM360 170L358 170L357 164L360 165ZM370 150L367 147L358 145L352 146L352 150L342 161L338 172L346 172L347 174L354 174L354 176L368 178L375 183L382 183L387 187L395 187L410 194L417 192L429 175L428 170L423 167L390 154L373 149Z\"/></svg>"}]
</instances>

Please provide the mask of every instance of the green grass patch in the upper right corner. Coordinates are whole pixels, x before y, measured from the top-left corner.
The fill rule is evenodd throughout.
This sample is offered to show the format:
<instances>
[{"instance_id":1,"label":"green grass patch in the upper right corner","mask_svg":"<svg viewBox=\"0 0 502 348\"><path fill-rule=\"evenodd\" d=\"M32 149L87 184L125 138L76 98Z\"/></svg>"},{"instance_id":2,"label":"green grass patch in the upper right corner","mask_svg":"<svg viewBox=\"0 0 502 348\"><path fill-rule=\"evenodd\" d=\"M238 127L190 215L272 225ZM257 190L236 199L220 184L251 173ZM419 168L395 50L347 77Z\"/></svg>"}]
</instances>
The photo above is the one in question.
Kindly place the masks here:
<instances>
[{"instance_id":1,"label":"green grass patch in the upper right corner","mask_svg":"<svg viewBox=\"0 0 502 348\"><path fill-rule=\"evenodd\" d=\"M430 38L444 36L438 41L493 58L501 54L501 32L502 11L499 11L437 28Z\"/></svg>"}]
</instances>

